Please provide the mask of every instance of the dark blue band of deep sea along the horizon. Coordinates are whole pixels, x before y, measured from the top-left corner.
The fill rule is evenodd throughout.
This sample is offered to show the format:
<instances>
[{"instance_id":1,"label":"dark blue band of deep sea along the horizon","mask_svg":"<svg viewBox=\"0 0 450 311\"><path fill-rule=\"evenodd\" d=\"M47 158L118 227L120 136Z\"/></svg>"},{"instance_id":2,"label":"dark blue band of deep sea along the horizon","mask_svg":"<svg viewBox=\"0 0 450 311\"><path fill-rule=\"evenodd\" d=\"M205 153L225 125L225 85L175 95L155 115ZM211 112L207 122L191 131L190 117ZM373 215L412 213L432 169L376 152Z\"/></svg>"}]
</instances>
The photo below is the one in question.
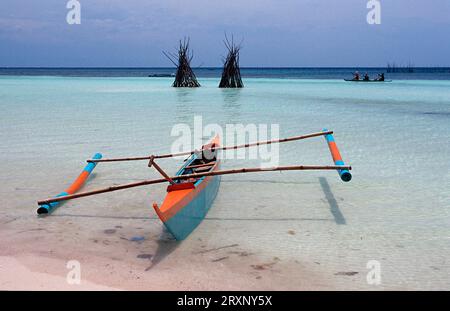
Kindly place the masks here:
<instances>
[{"instance_id":1,"label":"dark blue band of deep sea along the horizon","mask_svg":"<svg viewBox=\"0 0 450 311\"><path fill-rule=\"evenodd\" d=\"M198 78L220 78L222 67L193 67ZM324 79L352 78L353 72L376 77L384 72L391 80L450 80L450 67L241 67L243 79ZM55 77L146 77L170 78L174 67L0 67L0 76ZM151 76L151 77L149 77Z\"/></svg>"}]
</instances>

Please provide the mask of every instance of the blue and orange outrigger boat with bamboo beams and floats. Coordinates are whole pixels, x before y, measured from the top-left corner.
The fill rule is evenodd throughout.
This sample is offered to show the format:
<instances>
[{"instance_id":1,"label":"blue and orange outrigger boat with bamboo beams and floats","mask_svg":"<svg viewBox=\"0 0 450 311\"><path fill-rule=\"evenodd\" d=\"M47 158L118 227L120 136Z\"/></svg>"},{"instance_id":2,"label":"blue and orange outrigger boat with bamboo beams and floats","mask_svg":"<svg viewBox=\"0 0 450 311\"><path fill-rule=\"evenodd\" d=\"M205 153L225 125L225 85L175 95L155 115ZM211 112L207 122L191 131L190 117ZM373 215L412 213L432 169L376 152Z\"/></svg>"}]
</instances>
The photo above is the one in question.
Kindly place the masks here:
<instances>
[{"instance_id":1,"label":"blue and orange outrigger boat with bamboo beams and floats","mask_svg":"<svg viewBox=\"0 0 450 311\"><path fill-rule=\"evenodd\" d=\"M334 166L279 166L272 168L242 168L232 170L220 170L220 159L218 152L222 150L250 148L260 145L269 145L275 143L290 142L324 136L330 153L334 160ZM156 162L156 159L164 159L176 156L188 156L184 165L176 173L175 176L170 177ZM214 137L208 144L202 146L200 150L193 150L177 154L165 155L151 155L145 157L131 157L131 158L115 158L102 159L100 154L97 154L93 159L88 160L88 166L85 170L92 172L99 162L119 162L119 161L142 161L148 160L148 166L154 167L163 178L145 180L130 184L112 186L104 189L98 189L82 193L63 192L55 198L39 201L38 214L50 213L58 204L76 198L96 195L100 193L118 191L139 186L169 183L167 187L167 195L161 204L158 206L153 204L156 214L164 223L166 228L173 234L177 240L185 239L205 218L209 209L211 208L214 199L217 195L220 185L220 178L222 175L242 174L254 172L268 172L268 171L301 171L301 170L336 170L344 182L349 182L352 178L350 174L351 167L346 166L342 160L339 149L333 137L333 132L323 130L322 132L312 133L308 135L289 137L278 140L269 140L262 142L255 142L237 146L221 146L220 137ZM89 174L82 173L82 183L84 183ZM77 181L79 186L80 181ZM72 187L71 187L72 188ZM71 189L69 188L69 189ZM79 187L77 186L77 189Z\"/></svg>"}]
</instances>

